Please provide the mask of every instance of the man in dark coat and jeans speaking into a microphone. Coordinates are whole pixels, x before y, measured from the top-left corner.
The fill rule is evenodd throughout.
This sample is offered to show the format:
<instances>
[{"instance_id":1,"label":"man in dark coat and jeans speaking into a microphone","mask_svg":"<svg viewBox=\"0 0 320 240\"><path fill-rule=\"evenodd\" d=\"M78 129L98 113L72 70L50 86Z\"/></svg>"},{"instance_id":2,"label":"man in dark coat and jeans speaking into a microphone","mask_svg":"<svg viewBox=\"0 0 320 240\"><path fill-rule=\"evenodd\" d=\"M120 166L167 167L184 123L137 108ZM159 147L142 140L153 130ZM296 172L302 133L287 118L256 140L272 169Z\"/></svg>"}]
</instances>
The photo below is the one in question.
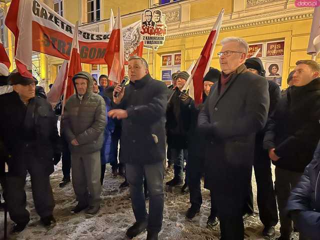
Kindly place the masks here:
<instances>
[{"instance_id":1,"label":"man in dark coat and jeans speaking into a microphone","mask_svg":"<svg viewBox=\"0 0 320 240\"><path fill-rule=\"evenodd\" d=\"M163 212L163 174L165 159L165 109L168 89L153 79L145 59L128 60L130 82L113 91L114 108L108 115L122 119L121 157L125 163L132 209L136 222L126 235L133 238L147 229L147 240L158 239ZM145 177L149 194L149 213L143 193Z\"/></svg>"}]
</instances>

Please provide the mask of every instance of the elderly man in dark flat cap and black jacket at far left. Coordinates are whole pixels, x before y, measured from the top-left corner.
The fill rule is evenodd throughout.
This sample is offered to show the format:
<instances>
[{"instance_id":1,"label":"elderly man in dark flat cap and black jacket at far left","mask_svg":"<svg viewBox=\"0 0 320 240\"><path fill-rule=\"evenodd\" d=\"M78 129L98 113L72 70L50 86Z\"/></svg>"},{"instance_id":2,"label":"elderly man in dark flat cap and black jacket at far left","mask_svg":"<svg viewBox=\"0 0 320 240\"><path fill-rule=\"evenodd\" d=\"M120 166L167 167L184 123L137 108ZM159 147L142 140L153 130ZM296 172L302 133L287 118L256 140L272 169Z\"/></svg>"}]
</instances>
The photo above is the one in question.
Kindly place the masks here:
<instances>
[{"instance_id":1,"label":"elderly man in dark flat cap and black jacket at far left","mask_svg":"<svg viewBox=\"0 0 320 240\"><path fill-rule=\"evenodd\" d=\"M12 73L8 81L13 91L0 96L0 132L8 154L5 199L13 232L24 229L29 221L25 209L26 171L31 176L36 212L44 225L54 222L54 199L49 175L61 157L56 117L51 105L35 95L35 80Z\"/></svg>"}]
</instances>

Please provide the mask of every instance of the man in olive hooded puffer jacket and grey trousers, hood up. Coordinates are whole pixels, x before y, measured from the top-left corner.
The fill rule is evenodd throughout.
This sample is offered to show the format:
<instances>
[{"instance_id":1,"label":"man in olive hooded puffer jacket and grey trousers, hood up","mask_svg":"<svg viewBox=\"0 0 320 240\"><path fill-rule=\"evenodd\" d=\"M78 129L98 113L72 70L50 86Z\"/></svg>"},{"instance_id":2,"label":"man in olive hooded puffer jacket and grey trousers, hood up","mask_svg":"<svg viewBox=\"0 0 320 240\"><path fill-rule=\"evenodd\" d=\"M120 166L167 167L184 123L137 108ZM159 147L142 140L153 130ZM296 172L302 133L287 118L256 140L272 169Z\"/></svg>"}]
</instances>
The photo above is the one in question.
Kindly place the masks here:
<instances>
[{"instance_id":1,"label":"man in olive hooded puffer jacket and grey trousers, hood up","mask_svg":"<svg viewBox=\"0 0 320 240\"><path fill-rule=\"evenodd\" d=\"M80 71L72 77L75 94L70 96L62 116L62 132L71 151L72 184L78 203L71 210L86 209L96 214L100 208L100 149L105 126L105 102L92 92L93 77Z\"/></svg>"}]
</instances>

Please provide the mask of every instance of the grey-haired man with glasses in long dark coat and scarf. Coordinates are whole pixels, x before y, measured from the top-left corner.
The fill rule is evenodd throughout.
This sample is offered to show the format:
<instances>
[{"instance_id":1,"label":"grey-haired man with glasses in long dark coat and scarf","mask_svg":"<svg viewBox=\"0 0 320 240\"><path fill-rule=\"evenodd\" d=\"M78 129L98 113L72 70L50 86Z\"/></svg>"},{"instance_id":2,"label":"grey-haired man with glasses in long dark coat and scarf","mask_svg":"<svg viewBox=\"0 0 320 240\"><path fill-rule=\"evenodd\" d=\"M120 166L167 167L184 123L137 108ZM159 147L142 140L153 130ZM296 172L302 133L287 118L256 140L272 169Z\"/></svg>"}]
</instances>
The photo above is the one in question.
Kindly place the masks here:
<instances>
[{"instance_id":1,"label":"grey-haired man with glasses in long dark coat and scarf","mask_svg":"<svg viewBox=\"0 0 320 240\"><path fill-rule=\"evenodd\" d=\"M198 125L208 136L204 184L216 202L221 239L240 240L255 134L264 127L269 109L268 83L247 71L246 41L227 37L221 44L222 72L199 113Z\"/></svg>"}]
</instances>

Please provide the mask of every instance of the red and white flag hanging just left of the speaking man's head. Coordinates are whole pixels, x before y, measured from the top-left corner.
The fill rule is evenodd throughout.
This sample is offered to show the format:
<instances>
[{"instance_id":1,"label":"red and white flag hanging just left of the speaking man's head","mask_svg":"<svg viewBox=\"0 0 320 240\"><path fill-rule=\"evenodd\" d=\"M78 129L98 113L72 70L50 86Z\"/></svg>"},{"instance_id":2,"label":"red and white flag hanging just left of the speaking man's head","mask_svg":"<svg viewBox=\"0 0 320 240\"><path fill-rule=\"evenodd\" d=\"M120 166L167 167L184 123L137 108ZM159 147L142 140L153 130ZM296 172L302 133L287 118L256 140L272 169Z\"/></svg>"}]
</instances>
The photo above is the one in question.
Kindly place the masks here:
<instances>
[{"instance_id":1,"label":"red and white flag hanging just left of the speaking man's head","mask_svg":"<svg viewBox=\"0 0 320 240\"><path fill-rule=\"evenodd\" d=\"M123 45L120 8L118 8L118 15L116 16L104 56L105 62L108 65L108 79L117 83L120 83L124 77Z\"/></svg>"}]
</instances>

